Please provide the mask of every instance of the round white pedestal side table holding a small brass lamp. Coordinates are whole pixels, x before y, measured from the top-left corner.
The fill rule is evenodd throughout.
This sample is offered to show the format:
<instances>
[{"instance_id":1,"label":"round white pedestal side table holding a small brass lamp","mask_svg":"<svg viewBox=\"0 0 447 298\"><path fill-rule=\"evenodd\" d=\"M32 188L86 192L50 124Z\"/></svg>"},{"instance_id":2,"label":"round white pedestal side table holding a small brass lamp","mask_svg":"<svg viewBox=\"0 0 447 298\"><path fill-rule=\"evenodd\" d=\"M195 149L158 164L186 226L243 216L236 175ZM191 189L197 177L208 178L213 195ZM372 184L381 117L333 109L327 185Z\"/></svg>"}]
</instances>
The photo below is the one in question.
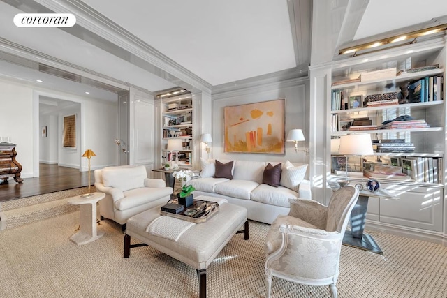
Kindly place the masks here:
<instances>
[{"instance_id":1,"label":"round white pedestal side table holding a small brass lamp","mask_svg":"<svg viewBox=\"0 0 447 298\"><path fill-rule=\"evenodd\" d=\"M68 199L68 204L80 205L80 229L70 237L75 244L87 244L101 238L104 232L96 229L96 203L105 197L105 193L92 193L87 198L77 195Z\"/></svg>"}]
</instances>

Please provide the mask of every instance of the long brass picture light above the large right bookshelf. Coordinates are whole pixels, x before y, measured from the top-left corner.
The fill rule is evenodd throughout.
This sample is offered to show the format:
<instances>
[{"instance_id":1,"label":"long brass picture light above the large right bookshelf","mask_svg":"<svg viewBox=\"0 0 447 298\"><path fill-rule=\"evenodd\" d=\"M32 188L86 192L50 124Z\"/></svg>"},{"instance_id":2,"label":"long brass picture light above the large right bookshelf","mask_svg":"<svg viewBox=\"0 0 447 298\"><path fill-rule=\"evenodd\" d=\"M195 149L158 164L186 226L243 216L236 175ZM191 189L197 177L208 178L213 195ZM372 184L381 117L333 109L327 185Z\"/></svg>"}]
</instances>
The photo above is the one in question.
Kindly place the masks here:
<instances>
[{"instance_id":1,"label":"long brass picture light above the large right bookshelf","mask_svg":"<svg viewBox=\"0 0 447 298\"><path fill-rule=\"evenodd\" d=\"M404 33L401 35L397 35L397 36L391 36L388 38L383 38L380 40L374 40L370 43L363 43L362 45L355 45L353 47L346 47L344 49L339 50L339 55L342 54L352 54L351 57L355 57L358 56L360 54L358 54L357 52L360 50L369 50L369 49L374 49L375 47L381 47L383 45L388 45L388 47L383 47L381 49L376 49L376 50L371 50L369 52L376 52L378 50L385 50L386 48L392 48L392 47L400 47L402 45L409 45L411 43L416 43L416 38L420 37L420 36L427 36L430 34L434 34L434 33L439 33L441 31L445 31L447 30L447 24L441 24L438 26L434 26L434 27L429 27L429 28L425 28L425 29L420 29L417 31L411 31L409 33ZM404 40L409 40L409 39L413 39L407 43L400 43L397 44L401 41ZM393 45L393 43L395 43L395 45ZM361 53L361 54L366 54L366 53Z\"/></svg>"}]
</instances>

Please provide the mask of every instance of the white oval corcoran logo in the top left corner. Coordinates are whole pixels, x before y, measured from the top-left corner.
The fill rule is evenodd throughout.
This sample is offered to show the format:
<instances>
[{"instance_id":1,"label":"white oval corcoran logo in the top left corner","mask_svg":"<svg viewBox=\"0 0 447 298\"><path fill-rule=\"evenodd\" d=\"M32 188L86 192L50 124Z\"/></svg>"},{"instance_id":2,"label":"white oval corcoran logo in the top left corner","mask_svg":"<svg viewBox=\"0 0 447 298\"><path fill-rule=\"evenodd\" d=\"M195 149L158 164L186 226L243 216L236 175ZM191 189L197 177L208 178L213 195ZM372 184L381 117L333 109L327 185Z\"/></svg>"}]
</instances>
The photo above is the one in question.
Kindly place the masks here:
<instances>
[{"instance_id":1,"label":"white oval corcoran logo in the top left corner","mask_svg":"<svg viewBox=\"0 0 447 298\"><path fill-rule=\"evenodd\" d=\"M71 13L17 13L17 27L73 27L76 17Z\"/></svg>"}]
</instances>

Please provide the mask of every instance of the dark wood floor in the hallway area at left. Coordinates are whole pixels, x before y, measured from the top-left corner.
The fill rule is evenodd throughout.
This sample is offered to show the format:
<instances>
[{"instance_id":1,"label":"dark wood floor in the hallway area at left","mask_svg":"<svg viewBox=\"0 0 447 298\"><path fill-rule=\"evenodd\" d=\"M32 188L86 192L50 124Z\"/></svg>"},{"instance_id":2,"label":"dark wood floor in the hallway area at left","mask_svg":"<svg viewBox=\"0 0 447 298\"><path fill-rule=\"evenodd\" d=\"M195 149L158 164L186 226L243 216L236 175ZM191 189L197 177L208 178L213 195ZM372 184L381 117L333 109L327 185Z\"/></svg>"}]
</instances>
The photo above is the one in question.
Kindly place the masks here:
<instances>
[{"instance_id":1,"label":"dark wood floor in the hallway area at left","mask_svg":"<svg viewBox=\"0 0 447 298\"><path fill-rule=\"evenodd\" d=\"M71 167L41 163L39 174L40 177L24 178L20 184L9 179L9 184L0 185L0 202L89 185L89 173L80 172ZM93 185L93 171L91 171L90 179Z\"/></svg>"}]
</instances>

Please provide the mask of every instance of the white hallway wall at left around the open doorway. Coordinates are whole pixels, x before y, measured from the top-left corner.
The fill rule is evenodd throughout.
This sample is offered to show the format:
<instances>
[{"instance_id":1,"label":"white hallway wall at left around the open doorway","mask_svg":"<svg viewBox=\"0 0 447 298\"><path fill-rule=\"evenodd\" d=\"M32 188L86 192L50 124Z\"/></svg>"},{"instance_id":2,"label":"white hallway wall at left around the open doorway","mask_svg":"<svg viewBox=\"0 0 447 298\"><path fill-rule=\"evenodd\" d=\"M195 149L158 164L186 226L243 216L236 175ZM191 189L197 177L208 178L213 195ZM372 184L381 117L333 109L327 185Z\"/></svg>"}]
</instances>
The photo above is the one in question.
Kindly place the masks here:
<instances>
[{"instance_id":1,"label":"white hallway wall at left around the open doorway","mask_svg":"<svg viewBox=\"0 0 447 298\"><path fill-rule=\"evenodd\" d=\"M56 158L54 152L51 152L50 156L37 154L34 157L35 151L41 151L41 140L48 139L48 137L41 137L40 119L34 112L34 107L38 107L36 101L38 102L38 97L41 95L71 100L81 105L81 110L78 111L80 115L78 147L70 158L58 156L57 159L61 159L67 165L76 167L82 165L82 171L87 171L87 158L80 156L86 149L92 149L96 154L91 159L92 170L108 165L117 165L117 145L114 140L118 135L116 102L109 103L104 100L36 88L12 80L0 80L0 90L0 136L11 137L12 142L17 144L16 159L22 165L22 178L34 177L38 174L38 162L41 158L47 161L54 161ZM46 123L50 135L55 132L54 125L61 126L61 123L55 124L55 119L44 119L43 121ZM59 119L57 122L60 122ZM57 131L57 140L50 138L50 140L44 140L44 144L58 142L60 149L62 146L61 131L59 132L59 128ZM34 147L35 144L36 147Z\"/></svg>"}]
</instances>

